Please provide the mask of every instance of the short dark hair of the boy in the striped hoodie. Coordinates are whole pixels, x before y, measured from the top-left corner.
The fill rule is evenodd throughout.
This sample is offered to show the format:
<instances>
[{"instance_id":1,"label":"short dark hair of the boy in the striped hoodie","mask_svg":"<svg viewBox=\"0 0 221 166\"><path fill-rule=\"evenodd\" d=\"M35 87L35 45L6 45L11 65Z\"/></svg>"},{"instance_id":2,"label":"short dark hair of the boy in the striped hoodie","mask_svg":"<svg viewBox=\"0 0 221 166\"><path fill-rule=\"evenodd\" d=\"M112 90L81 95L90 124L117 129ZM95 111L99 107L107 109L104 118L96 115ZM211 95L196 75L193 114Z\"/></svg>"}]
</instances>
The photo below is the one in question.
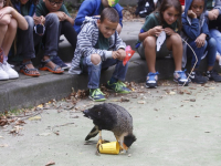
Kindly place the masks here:
<instances>
[{"instance_id":1,"label":"short dark hair of the boy in the striped hoodie","mask_svg":"<svg viewBox=\"0 0 221 166\"><path fill-rule=\"evenodd\" d=\"M101 14L101 22L105 19L109 20L110 22L119 22L118 12L114 8L105 8Z\"/></svg>"}]
</instances>

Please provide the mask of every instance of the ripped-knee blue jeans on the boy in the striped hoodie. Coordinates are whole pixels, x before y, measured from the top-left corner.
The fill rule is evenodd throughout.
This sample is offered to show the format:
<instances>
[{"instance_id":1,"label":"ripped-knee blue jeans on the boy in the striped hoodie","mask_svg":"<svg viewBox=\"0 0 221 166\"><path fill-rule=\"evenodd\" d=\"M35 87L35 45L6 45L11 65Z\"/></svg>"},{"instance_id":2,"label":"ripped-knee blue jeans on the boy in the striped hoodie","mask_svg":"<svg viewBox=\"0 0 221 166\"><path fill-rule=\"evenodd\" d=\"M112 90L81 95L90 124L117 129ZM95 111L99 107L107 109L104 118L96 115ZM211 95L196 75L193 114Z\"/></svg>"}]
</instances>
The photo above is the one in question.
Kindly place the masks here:
<instances>
[{"instance_id":1,"label":"ripped-knee blue jeans on the boy in the striped hoodie","mask_svg":"<svg viewBox=\"0 0 221 166\"><path fill-rule=\"evenodd\" d=\"M92 63L91 56L84 58L82 65L83 65L83 72L88 73L87 87L88 89L98 89L102 69L106 69L106 68L109 68L115 64L116 64L115 71L112 76L117 80L124 81L126 73L127 73L129 62L127 62L127 64L124 66L123 62L119 60L107 59L106 61L102 61L99 64L95 65Z\"/></svg>"}]
</instances>

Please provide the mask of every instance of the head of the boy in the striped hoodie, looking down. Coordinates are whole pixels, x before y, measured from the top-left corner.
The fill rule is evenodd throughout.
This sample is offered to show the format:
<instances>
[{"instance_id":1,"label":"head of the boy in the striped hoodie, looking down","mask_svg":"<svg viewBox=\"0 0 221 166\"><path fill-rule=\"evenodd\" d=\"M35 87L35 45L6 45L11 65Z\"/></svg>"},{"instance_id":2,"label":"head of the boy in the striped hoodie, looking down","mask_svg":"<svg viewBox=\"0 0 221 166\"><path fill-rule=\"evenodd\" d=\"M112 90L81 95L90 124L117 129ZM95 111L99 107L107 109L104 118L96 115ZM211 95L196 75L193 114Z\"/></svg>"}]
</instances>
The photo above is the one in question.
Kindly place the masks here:
<instances>
[{"instance_id":1,"label":"head of the boy in the striped hoodie, looking down","mask_svg":"<svg viewBox=\"0 0 221 166\"><path fill-rule=\"evenodd\" d=\"M105 8L102 11L97 25L104 38L109 38L117 29L119 15L114 8Z\"/></svg>"}]
</instances>

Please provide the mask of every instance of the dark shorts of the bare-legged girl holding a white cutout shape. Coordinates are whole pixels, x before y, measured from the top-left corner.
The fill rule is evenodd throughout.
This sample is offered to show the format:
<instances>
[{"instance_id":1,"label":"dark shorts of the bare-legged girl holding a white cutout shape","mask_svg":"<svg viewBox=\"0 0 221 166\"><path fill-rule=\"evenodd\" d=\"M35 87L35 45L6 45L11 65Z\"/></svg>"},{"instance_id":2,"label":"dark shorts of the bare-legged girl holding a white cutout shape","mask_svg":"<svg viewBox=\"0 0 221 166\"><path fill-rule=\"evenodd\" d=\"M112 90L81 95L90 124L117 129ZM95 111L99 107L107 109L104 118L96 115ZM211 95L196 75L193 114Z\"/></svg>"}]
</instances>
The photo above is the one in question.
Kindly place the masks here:
<instances>
[{"instance_id":1,"label":"dark shorts of the bare-legged girl holding a white cutout shape","mask_svg":"<svg viewBox=\"0 0 221 166\"><path fill-rule=\"evenodd\" d=\"M145 48L144 48L143 43L137 49L137 52L139 53L139 55L140 55L141 59L144 59L144 60L146 59L145 58ZM156 52L157 52L157 50L156 50ZM157 52L157 58L160 58L160 59L161 58L166 58L166 59L172 58L172 51L169 51L167 49L166 41L162 43L160 50Z\"/></svg>"}]
</instances>

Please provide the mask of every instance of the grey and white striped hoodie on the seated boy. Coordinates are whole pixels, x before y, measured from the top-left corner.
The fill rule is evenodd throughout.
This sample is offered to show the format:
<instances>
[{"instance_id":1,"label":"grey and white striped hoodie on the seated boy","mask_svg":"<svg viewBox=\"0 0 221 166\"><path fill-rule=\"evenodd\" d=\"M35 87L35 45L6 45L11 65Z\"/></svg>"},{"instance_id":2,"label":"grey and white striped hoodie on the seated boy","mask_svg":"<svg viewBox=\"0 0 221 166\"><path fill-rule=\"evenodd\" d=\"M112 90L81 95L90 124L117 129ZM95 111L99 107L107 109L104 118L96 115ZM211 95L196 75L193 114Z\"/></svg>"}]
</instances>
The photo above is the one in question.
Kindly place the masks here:
<instances>
[{"instance_id":1,"label":"grey and white striped hoodie on the seated boy","mask_svg":"<svg viewBox=\"0 0 221 166\"><path fill-rule=\"evenodd\" d=\"M74 58L72 60L72 65L69 71L70 74L81 74L82 70L80 69L81 59L90 56L91 54L99 54L102 61L105 61L107 58L112 56L112 52L118 49L125 49L126 44L119 38L118 33L115 32L109 38L109 49L99 50L94 46L97 43L99 30L96 24L97 19L86 17L85 21L82 24L82 30L77 35L76 49L74 52Z\"/></svg>"}]
</instances>

